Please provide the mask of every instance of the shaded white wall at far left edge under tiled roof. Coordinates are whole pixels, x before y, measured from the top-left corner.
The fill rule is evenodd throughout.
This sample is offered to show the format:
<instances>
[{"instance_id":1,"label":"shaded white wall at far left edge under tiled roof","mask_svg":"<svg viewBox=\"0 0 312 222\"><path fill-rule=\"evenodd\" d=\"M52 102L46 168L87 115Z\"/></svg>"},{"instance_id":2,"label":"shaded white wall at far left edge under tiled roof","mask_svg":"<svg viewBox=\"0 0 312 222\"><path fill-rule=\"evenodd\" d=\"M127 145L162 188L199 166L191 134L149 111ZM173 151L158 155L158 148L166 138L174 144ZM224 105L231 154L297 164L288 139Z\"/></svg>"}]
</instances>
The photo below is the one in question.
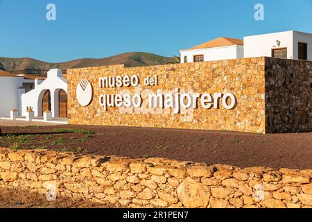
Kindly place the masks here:
<instances>
[{"instance_id":1,"label":"shaded white wall at far left edge under tiled roof","mask_svg":"<svg viewBox=\"0 0 312 222\"><path fill-rule=\"evenodd\" d=\"M0 77L0 117L9 117L10 110L19 108L19 88L23 77Z\"/></svg>"}]
</instances>

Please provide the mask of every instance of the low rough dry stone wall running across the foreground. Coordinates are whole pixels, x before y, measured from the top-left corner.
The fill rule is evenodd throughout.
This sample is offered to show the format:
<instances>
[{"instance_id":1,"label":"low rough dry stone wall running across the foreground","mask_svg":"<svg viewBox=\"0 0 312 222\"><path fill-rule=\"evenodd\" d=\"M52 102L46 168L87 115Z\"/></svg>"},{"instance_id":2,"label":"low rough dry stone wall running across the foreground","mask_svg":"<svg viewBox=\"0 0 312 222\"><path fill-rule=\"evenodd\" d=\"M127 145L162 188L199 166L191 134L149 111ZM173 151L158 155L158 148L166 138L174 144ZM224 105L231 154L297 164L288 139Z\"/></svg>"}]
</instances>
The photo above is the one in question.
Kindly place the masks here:
<instances>
[{"instance_id":1,"label":"low rough dry stone wall running across the foreground","mask_svg":"<svg viewBox=\"0 0 312 222\"><path fill-rule=\"evenodd\" d=\"M127 207L311 208L311 176L312 170L0 149L1 187Z\"/></svg>"}]
</instances>

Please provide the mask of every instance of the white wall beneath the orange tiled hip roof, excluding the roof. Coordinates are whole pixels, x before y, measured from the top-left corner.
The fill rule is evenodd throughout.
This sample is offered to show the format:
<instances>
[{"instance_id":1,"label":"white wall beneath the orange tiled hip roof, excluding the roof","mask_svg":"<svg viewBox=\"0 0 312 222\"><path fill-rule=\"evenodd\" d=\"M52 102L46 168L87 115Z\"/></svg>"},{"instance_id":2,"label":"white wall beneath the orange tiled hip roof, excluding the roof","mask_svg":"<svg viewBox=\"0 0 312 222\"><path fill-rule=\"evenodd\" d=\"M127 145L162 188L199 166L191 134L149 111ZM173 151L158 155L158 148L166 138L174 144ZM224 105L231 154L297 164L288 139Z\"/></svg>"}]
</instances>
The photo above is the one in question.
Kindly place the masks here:
<instances>
[{"instance_id":1,"label":"white wall beneath the orange tiled hip roof, excluding the roof","mask_svg":"<svg viewBox=\"0 0 312 222\"><path fill-rule=\"evenodd\" d=\"M243 58L243 46L225 46L218 48L180 51L181 63L184 63L184 56L187 56L187 62L193 62L193 57L198 55L204 55L204 61Z\"/></svg>"}]
</instances>

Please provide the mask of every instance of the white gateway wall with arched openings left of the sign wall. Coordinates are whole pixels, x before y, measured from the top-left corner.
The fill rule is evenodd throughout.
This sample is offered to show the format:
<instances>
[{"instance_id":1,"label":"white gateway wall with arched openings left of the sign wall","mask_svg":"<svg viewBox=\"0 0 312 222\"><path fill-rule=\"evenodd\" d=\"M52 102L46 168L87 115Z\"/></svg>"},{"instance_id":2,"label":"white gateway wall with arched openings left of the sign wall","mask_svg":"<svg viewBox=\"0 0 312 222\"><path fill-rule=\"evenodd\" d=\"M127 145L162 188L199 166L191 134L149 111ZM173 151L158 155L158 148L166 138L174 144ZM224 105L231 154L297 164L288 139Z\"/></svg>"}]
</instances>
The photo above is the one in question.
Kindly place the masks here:
<instances>
[{"instance_id":1,"label":"white gateway wall with arched openings left of the sign wall","mask_svg":"<svg viewBox=\"0 0 312 222\"><path fill-rule=\"evenodd\" d=\"M42 113L42 99L46 90L51 93L51 112L53 117L58 117L58 92L63 89L67 93L67 79L62 78L60 69L51 69L48 72L46 80L43 82L35 80L35 89L21 96L22 114L26 115L28 106L33 108L35 117L39 117Z\"/></svg>"}]
</instances>

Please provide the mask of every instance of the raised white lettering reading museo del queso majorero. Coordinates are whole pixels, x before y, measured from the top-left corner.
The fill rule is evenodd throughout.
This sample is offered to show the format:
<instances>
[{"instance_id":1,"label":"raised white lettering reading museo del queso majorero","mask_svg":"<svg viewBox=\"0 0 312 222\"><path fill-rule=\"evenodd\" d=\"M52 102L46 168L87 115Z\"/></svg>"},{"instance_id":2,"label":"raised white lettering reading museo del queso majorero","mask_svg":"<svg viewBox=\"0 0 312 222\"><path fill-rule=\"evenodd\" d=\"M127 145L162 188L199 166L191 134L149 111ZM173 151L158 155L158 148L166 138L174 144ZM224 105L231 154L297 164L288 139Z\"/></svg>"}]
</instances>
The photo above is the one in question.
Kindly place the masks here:
<instances>
[{"instance_id":1,"label":"raised white lettering reading museo del queso majorero","mask_svg":"<svg viewBox=\"0 0 312 222\"><path fill-rule=\"evenodd\" d=\"M144 85L157 85L158 77L150 77L144 79ZM140 83L139 76L116 76L111 78L99 78L98 86L100 88L114 87L138 87ZM183 92L175 88L168 93L162 93L158 89L157 93L147 93L148 108L165 108L173 109L174 114L180 113L181 109L197 109L198 104L205 109L218 109L220 103L227 110L232 110L236 105L236 97L231 93L221 94L220 92L213 95L204 93ZM116 108L140 108L143 103L141 94L135 93L119 93L119 94L101 94L99 96L101 107L107 111L109 107Z\"/></svg>"}]
</instances>

